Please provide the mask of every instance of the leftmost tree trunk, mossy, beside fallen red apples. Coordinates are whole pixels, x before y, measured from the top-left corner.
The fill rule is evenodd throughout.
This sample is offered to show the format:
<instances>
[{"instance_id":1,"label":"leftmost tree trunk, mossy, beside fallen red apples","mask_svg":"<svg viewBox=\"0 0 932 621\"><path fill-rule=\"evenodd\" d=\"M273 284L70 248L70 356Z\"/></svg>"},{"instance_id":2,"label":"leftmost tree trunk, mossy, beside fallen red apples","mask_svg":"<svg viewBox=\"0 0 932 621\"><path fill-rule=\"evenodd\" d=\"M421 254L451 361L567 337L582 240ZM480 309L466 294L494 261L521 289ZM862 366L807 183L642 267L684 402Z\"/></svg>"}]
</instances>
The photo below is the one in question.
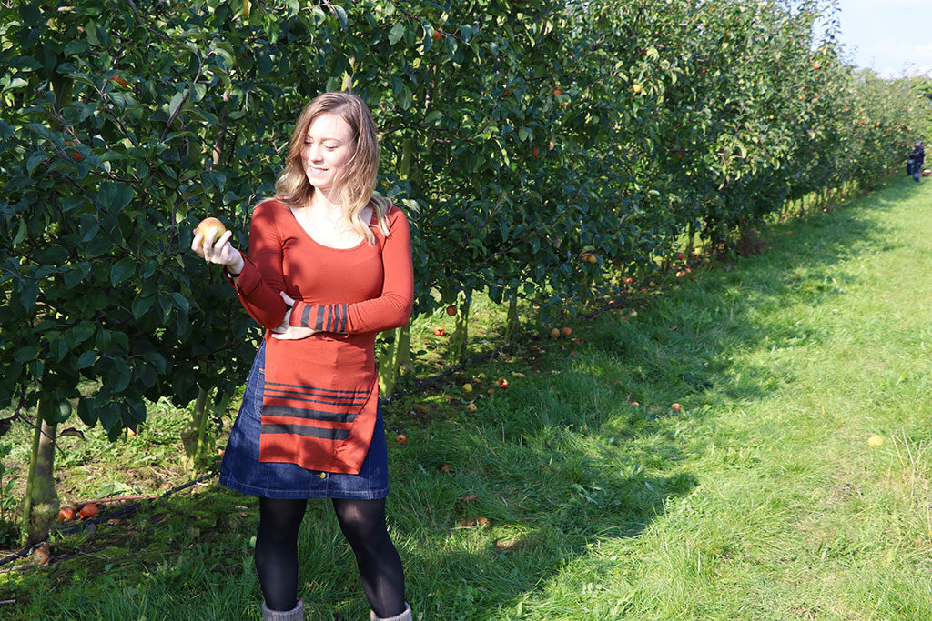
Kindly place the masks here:
<instances>
[{"instance_id":1,"label":"leftmost tree trunk, mossy, beside fallen red apples","mask_svg":"<svg viewBox=\"0 0 932 621\"><path fill-rule=\"evenodd\" d=\"M42 412L41 405L36 412ZM58 519L59 499L53 476L57 427L49 425L36 414L29 478L22 505L21 541L25 546L48 539L48 529Z\"/></svg>"}]
</instances>

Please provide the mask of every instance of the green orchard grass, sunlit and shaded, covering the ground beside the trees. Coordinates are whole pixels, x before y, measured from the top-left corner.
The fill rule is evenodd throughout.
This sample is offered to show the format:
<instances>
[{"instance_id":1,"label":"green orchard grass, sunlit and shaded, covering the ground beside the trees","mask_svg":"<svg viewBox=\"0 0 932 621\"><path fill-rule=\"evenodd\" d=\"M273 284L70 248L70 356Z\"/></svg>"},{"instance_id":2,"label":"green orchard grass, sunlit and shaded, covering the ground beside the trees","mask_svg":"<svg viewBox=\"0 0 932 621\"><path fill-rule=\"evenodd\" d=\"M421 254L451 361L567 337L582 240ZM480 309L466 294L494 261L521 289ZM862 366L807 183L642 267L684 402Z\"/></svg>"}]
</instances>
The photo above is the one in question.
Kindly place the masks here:
<instances>
[{"instance_id":1,"label":"green orchard grass, sunlit and shaded, covering the ground beside the trees","mask_svg":"<svg viewBox=\"0 0 932 621\"><path fill-rule=\"evenodd\" d=\"M761 255L670 279L637 317L573 325L583 344L532 342L391 404L390 526L416 614L932 618L930 228L932 184L891 178L774 224ZM178 427L165 410L135 439L90 438L62 488L171 487L172 444L153 442ZM123 479L126 460L148 478ZM258 619L255 513L195 486L58 535L58 562L0 574L16 600L0 616ZM325 502L300 555L308 618L367 618Z\"/></svg>"}]
</instances>

